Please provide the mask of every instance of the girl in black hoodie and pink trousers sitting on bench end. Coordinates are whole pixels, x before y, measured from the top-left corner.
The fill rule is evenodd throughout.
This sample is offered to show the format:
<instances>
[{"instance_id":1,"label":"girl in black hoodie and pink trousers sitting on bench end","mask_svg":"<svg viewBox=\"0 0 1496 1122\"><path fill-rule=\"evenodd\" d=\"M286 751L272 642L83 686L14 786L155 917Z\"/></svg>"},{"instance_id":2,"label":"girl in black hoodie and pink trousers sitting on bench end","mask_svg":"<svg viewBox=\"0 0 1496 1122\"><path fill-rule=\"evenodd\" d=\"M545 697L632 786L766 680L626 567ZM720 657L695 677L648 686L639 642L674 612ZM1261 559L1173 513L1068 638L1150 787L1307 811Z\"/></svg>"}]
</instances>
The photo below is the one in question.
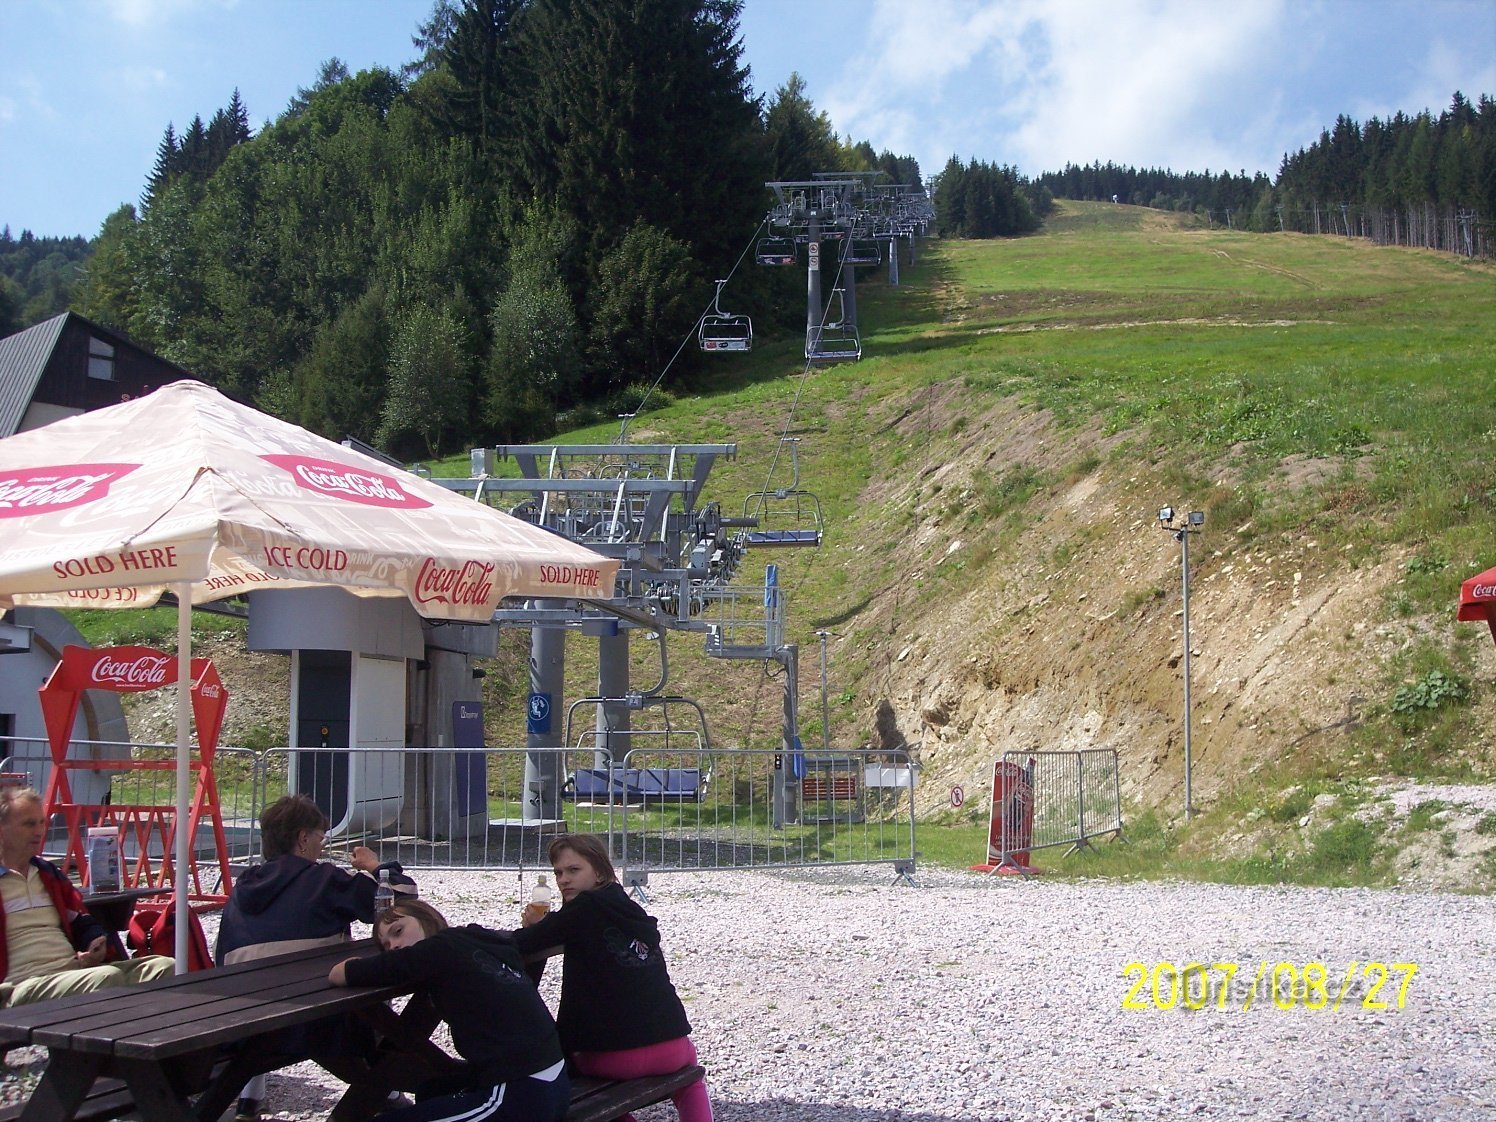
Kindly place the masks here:
<instances>
[{"instance_id":1,"label":"girl in black hoodie and pink trousers sitting on bench end","mask_svg":"<svg viewBox=\"0 0 1496 1122\"><path fill-rule=\"evenodd\" d=\"M618 883L607 845L568 833L551 842L548 856L561 910L527 905L525 926L513 936L525 956L562 950L557 1026L576 1071L637 1079L696 1064L691 1025L660 950L660 925ZM681 1122L712 1122L705 1080L672 1100Z\"/></svg>"}]
</instances>

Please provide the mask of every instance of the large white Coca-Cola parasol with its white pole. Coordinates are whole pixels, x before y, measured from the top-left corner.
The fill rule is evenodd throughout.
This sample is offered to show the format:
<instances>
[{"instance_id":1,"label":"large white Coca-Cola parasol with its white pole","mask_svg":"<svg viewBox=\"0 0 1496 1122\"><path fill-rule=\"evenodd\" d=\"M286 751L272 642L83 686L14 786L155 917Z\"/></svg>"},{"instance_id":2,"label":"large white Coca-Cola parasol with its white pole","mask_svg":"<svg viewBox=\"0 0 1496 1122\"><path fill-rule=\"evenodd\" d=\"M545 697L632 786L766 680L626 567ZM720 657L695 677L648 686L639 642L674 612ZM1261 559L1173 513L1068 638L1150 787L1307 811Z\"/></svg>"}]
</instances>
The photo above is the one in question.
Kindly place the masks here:
<instances>
[{"instance_id":1,"label":"large white Coca-Cola parasol with its white pole","mask_svg":"<svg viewBox=\"0 0 1496 1122\"><path fill-rule=\"evenodd\" d=\"M223 396L200 381L0 440L0 610L178 609L337 585L404 595L428 618L486 621L504 597L597 598L618 561ZM177 821L187 821L190 709L177 691ZM177 962L187 936L177 830Z\"/></svg>"}]
</instances>

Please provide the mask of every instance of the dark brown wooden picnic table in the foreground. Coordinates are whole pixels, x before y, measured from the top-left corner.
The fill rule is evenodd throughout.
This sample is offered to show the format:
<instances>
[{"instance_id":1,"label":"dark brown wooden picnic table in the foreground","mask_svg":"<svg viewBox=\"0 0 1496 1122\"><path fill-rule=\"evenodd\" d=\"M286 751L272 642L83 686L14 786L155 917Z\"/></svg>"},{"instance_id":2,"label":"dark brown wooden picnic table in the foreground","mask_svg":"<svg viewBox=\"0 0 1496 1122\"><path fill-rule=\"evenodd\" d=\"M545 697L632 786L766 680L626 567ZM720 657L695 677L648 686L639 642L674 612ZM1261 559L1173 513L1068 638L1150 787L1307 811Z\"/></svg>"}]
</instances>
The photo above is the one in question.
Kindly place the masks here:
<instances>
[{"instance_id":1,"label":"dark brown wooden picnic table in the foreground","mask_svg":"<svg viewBox=\"0 0 1496 1122\"><path fill-rule=\"evenodd\" d=\"M377 951L373 939L344 942L0 1010L0 1047L45 1046L49 1055L19 1118L72 1122L87 1113L96 1080L117 1079L151 1122L215 1122L250 1076L307 1058L277 1050L280 1029L346 1013L371 1017L402 1044L373 1067L316 1058L349 1083L331 1118L370 1118L413 1068L434 1074L444 1062L429 1040L438 1023L429 1002L413 998L396 1016L384 1002L408 989L328 981L334 963Z\"/></svg>"}]
</instances>

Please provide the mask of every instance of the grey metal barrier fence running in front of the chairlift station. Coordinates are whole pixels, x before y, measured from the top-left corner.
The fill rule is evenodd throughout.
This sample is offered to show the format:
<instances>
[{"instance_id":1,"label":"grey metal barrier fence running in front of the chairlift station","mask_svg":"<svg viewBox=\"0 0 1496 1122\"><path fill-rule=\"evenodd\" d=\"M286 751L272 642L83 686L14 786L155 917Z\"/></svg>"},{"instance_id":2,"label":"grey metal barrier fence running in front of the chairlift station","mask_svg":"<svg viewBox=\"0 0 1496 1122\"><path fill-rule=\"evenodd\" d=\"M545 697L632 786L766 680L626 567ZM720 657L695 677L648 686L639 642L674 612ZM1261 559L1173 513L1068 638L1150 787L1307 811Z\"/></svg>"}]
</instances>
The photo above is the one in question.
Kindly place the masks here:
<instances>
[{"instance_id":1,"label":"grey metal barrier fence running in front of the chairlift station","mask_svg":"<svg viewBox=\"0 0 1496 1122\"><path fill-rule=\"evenodd\" d=\"M651 739L648 730L618 736ZM585 739L542 749L220 748L214 772L235 865L257 860L260 811L295 790L328 814L334 859L368 845L410 869L524 871L549 866L557 835L595 833L630 886L651 874L826 865L884 863L913 875L907 754L724 749L679 736L664 744L633 747L621 763ZM45 742L0 748L12 770L45 776ZM169 806L175 775L115 772L109 800ZM199 863L212 860L212 845L211 832L199 830Z\"/></svg>"}]
</instances>

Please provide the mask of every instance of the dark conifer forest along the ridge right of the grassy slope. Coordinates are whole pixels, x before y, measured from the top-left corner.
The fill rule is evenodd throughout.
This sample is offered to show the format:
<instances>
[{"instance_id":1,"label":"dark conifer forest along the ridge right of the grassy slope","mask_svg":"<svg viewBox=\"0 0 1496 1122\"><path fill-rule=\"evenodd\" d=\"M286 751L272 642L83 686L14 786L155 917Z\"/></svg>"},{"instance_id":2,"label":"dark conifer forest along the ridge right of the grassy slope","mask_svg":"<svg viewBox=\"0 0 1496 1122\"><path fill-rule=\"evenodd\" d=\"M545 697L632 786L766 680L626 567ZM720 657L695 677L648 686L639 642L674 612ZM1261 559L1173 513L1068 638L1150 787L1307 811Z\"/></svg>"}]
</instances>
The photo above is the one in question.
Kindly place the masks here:
<instances>
[{"instance_id":1,"label":"dark conifer forest along the ridge right of the grassy slope","mask_svg":"<svg viewBox=\"0 0 1496 1122\"><path fill-rule=\"evenodd\" d=\"M1278 180L1177 175L1113 163L1067 165L1037 180L1056 197L1191 211L1234 229L1297 230L1490 256L1496 253L1496 100L1456 91L1435 117L1357 124L1342 114L1284 156Z\"/></svg>"}]
</instances>

